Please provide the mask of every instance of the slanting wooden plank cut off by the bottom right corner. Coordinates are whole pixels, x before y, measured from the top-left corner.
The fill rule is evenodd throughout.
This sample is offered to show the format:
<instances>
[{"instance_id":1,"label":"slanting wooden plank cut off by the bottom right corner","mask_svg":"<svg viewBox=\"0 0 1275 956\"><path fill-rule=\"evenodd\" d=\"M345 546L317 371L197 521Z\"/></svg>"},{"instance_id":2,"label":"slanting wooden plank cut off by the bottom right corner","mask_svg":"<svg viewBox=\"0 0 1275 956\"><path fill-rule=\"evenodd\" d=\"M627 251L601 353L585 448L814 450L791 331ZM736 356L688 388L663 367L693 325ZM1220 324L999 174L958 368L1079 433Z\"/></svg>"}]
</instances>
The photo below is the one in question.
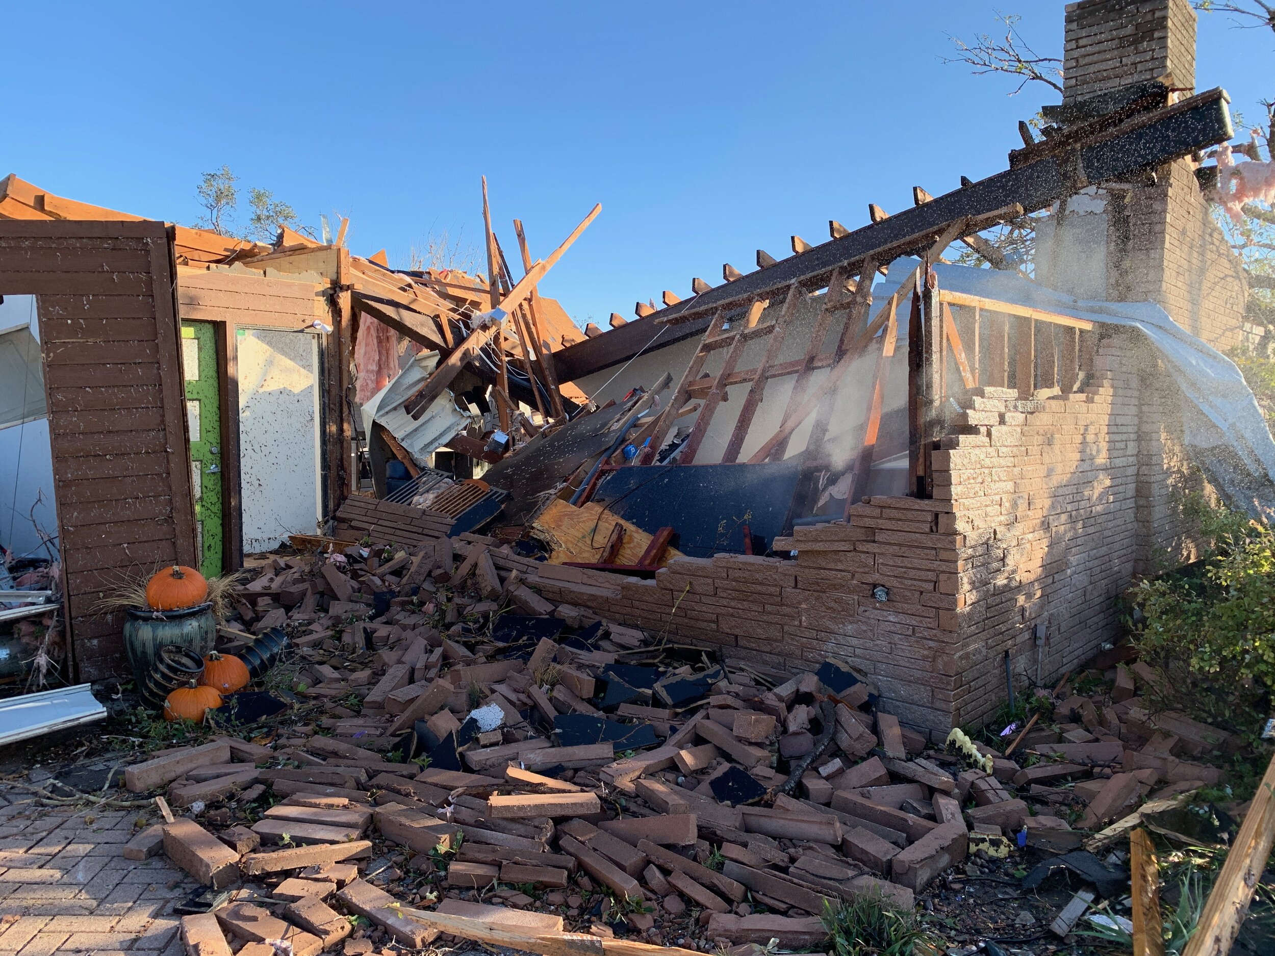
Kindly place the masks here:
<instances>
[{"instance_id":1,"label":"slanting wooden plank cut off by the bottom right corner","mask_svg":"<svg viewBox=\"0 0 1275 956\"><path fill-rule=\"evenodd\" d=\"M1244 922L1253 891L1266 869L1275 841L1275 757L1257 785L1248 813L1221 864L1209 901L1182 956L1227 956Z\"/></svg>"}]
</instances>

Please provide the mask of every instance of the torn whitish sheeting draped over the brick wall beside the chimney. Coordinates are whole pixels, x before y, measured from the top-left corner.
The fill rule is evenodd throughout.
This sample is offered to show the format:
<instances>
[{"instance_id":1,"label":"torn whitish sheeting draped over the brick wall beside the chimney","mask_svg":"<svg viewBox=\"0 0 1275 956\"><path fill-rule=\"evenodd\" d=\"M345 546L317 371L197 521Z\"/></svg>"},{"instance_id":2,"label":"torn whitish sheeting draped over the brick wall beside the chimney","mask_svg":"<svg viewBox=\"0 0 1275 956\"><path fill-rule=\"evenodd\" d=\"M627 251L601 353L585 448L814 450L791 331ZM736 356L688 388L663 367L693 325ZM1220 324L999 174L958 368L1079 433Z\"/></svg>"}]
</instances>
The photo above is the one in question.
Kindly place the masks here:
<instances>
[{"instance_id":1,"label":"torn whitish sheeting draped over the brick wall beside the chimney","mask_svg":"<svg viewBox=\"0 0 1275 956\"><path fill-rule=\"evenodd\" d=\"M1275 441L1239 368L1197 339L1154 302L1080 300L1009 272L940 263L938 287L1033 308L1140 330L1159 351L1183 396L1186 442L1232 507L1275 516ZM908 274L899 269L899 274ZM875 298L898 286L872 289ZM900 311L900 321L905 321Z\"/></svg>"}]
</instances>

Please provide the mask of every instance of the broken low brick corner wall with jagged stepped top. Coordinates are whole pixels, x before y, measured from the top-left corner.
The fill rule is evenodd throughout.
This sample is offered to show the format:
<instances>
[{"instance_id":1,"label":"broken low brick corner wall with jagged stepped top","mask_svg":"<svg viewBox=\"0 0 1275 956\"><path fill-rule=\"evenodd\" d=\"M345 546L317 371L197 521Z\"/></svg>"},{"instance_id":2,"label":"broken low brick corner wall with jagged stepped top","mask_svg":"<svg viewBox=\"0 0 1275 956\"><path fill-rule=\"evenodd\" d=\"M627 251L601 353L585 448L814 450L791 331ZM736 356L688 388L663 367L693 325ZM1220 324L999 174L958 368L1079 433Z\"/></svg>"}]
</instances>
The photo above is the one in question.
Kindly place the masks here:
<instances>
[{"instance_id":1,"label":"broken low brick corner wall with jagged stepped top","mask_svg":"<svg viewBox=\"0 0 1275 956\"><path fill-rule=\"evenodd\" d=\"M771 667L838 655L882 707L936 733L988 719L1118 632L1117 599L1158 554L1193 553L1178 404L1141 340L1098 348L1091 385L1020 400L979 389L935 453L935 500L875 497L776 542L794 561L678 558L654 581L542 567L547 597ZM885 585L887 599L873 598Z\"/></svg>"}]
</instances>

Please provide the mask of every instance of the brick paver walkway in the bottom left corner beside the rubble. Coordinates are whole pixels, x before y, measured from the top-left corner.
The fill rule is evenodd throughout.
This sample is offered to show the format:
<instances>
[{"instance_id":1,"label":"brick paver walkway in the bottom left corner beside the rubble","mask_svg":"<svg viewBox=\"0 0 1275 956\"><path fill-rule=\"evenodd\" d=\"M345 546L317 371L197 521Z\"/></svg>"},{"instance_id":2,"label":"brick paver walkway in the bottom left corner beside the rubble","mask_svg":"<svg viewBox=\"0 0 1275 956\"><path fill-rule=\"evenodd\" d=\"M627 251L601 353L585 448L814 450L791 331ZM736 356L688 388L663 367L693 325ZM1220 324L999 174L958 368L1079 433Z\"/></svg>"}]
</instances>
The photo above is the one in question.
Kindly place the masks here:
<instances>
[{"instance_id":1,"label":"brick paver walkway in the bottom left corner beside the rubble","mask_svg":"<svg viewBox=\"0 0 1275 956\"><path fill-rule=\"evenodd\" d=\"M0 807L0 956L182 956L172 908L196 886L163 855L124 858L136 818L136 811Z\"/></svg>"}]
</instances>

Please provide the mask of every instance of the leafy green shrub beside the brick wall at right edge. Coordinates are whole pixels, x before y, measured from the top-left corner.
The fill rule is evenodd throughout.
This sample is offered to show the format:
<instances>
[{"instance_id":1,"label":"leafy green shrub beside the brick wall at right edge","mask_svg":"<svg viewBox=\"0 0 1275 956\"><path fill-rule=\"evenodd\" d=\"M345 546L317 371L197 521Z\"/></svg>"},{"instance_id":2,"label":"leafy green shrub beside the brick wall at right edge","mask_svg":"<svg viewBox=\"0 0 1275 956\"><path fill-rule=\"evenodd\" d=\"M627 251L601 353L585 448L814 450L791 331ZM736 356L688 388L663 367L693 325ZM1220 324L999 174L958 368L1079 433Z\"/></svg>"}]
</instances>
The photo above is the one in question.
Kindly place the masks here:
<instances>
[{"instance_id":1,"label":"leafy green shrub beside the brick wall at right edge","mask_svg":"<svg viewBox=\"0 0 1275 956\"><path fill-rule=\"evenodd\" d=\"M1127 595L1133 645L1165 676L1145 696L1155 709L1251 730L1247 715L1265 713L1275 688L1275 532L1198 495L1183 507L1207 557Z\"/></svg>"}]
</instances>

